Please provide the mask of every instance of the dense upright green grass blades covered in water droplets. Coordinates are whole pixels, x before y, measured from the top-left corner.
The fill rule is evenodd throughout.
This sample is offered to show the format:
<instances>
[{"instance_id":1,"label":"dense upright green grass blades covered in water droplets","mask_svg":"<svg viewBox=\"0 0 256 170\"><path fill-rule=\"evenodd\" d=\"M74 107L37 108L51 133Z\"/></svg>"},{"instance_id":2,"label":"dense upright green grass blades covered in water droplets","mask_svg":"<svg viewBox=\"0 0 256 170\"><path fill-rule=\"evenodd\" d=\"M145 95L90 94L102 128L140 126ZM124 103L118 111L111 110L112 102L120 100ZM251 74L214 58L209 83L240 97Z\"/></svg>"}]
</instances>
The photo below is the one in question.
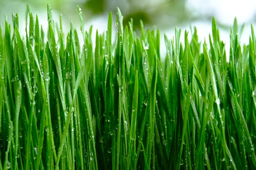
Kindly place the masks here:
<instances>
[{"instance_id":1,"label":"dense upright green grass blades covered in water droplets","mask_svg":"<svg viewBox=\"0 0 256 170\"><path fill-rule=\"evenodd\" d=\"M137 36L118 8L117 40L110 13L92 44L77 11L66 36L49 5L47 32L29 6L24 38L18 15L0 26L0 170L256 169L253 26L241 45L234 20L229 54L215 18L209 44L176 28L163 57L159 30Z\"/></svg>"}]
</instances>

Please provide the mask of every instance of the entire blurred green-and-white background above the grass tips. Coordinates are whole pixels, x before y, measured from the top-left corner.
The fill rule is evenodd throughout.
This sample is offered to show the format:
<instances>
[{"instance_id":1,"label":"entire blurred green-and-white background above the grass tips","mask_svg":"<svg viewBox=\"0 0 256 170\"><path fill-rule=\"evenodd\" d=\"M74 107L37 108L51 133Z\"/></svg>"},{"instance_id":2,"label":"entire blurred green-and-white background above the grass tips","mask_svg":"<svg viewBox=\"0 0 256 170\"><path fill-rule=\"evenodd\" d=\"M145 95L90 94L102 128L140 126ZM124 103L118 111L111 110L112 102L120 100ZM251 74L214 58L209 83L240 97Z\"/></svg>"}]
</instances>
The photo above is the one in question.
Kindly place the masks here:
<instances>
[{"instance_id":1,"label":"entire blurred green-and-white background above the grass tips","mask_svg":"<svg viewBox=\"0 0 256 170\"><path fill-rule=\"evenodd\" d=\"M59 21L59 15L62 14L65 33L70 29L71 20L76 29L80 28L76 12L77 5L83 12L85 29L88 30L89 26L93 25L94 31L98 29L100 33L107 29L110 11L115 24L116 7L121 9L124 24L133 18L135 28L138 28L139 20L142 20L146 28L152 29L155 26L160 29L162 35L166 33L169 38L173 37L175 26L182 29L184 34L185 29L190 30L191 24L197 26L199 38L202 41L204 37L208 40L212 17L215 16L221 38L227 42L227 45L230 25L233 24L235 16L238 18L238 24L246 23L241 39L244 43L249 41L250 23L256 23L256 1L254 0L0 0L0 24L4 26L4 14L8 16L8 22L11 23L11 13L18 13L20 31L25 31L23 29L25 28L25 9L26 4L29 4L46 30L48 3L54 10L55 22Z\"/></svg>"}]
</instances>

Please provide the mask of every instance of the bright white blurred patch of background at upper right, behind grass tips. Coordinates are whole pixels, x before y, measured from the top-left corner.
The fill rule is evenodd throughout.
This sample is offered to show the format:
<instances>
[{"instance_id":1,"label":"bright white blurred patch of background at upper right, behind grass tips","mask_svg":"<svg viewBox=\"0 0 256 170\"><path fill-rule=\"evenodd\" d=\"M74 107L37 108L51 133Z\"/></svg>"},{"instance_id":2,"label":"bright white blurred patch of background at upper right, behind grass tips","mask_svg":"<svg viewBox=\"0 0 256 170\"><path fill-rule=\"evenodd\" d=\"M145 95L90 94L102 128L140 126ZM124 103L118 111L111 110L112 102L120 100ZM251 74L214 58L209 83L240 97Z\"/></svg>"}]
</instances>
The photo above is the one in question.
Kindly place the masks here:
<instances>
[{"instance_id":1,"label":"bright white blurred patch of background at upper right, behind grass tips","mask_svg":"<svg viewBox=\"0 0 256 170\"><path fill-rule=\"evenodd\" d=\"M254 24L254 27L256 26L255 0L209 0L209 3L204 3L204 0L188 0L187 5L201 11L198 15L213 13L216 18L217 26L218 23L232 25L236 17L240 26L245 23L241 42L249 43L251 23ZM192 24L197 27L198 34L201 38L204 36L208 38L209 31L211 31L211 22L207 23L198 20ZM230 30L220 29L220 36L225 42L229 42L229 31Z\"/></svg>"}]
</instances>

